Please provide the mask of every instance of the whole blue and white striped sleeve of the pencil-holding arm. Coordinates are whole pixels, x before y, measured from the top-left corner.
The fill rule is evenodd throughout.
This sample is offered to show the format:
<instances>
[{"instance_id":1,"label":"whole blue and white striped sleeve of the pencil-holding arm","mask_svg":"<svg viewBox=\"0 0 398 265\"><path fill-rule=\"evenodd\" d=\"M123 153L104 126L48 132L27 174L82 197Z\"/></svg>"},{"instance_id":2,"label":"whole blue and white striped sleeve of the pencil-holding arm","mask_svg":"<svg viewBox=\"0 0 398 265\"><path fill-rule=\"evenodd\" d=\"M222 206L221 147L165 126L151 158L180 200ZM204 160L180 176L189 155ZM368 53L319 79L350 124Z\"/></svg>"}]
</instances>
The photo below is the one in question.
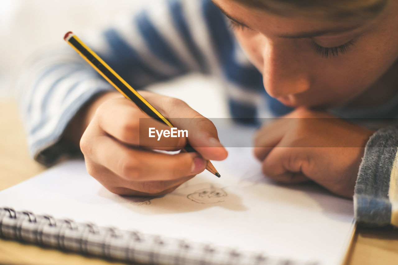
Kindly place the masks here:
<instances>
[{"instance_id":1,"label":"whole blue and white striped sleeve of the pencil-holding arm","mask_svg":"<svg viewBox=\"0 0 398 265\"><path fill-rule=\"evenodd\" d=\"M204 3L211 1L156 1L113 27L75 33L136 89L192 71L215 73L220 64L203 15ZM18 85L30 154L47 165L68 152L62 134L78 110L113 89L69 45L64 46L37 57Z\"/></svg>"}]
</instances>

